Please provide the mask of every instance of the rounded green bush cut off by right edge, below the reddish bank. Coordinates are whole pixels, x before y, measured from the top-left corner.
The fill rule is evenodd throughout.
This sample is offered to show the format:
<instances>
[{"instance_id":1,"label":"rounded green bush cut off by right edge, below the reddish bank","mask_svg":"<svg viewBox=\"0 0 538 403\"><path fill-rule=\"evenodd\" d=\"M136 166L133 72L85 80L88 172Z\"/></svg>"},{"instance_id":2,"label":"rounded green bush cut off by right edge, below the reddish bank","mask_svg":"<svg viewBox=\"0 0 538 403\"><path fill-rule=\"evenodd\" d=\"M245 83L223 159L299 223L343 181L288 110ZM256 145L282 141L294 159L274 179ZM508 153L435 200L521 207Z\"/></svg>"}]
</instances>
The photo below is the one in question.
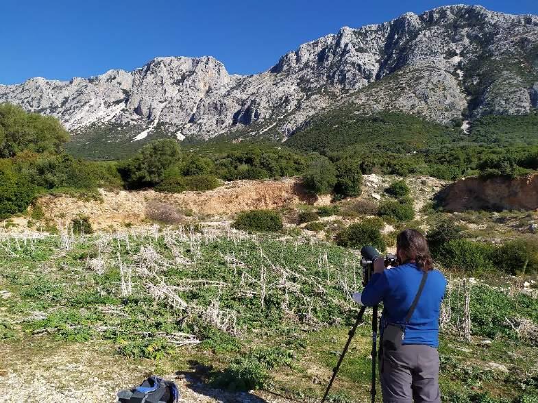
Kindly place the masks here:
<instances>
[{"instance_id":1,"label":"rounded green bush cut off by right edge, below the reddish bank","mask_svg":"<svg viewBox=\"0 0 538 403\"><path fill-rule=\"evenodd\" d=\"M514 276L537 273L538 245L530 239L509 241L497 249L494 262L497 267Z\"/></svg>"}]
</instances>

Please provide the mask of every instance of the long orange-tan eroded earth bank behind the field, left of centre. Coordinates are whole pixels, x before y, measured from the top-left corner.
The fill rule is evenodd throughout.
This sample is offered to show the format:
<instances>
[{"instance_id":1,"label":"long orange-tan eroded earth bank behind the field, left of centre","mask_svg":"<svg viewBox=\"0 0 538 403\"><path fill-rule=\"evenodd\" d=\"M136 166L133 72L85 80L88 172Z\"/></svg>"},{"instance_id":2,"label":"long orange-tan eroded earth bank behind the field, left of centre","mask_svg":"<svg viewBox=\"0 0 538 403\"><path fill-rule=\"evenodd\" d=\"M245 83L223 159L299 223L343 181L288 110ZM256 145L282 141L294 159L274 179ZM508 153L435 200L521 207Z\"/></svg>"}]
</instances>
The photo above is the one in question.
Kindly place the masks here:
<instances>
[{"instance_id":1,"label":"long orange-tan eroded earth bank behind the field, left of centre","mask_svg":"<svg viewBox=\"0 0 538 403\"><path fill-rule=\"evenodd\" d=\"M45 217L69 222L77 215L88 216L94 228L118 223L137 224L154 215L162 205L201 215L233 215L254 208L278 208L299 202L316 202L304 193L299 180L241 180L213 191L158 193L146 191L103 191L102 202L70 196L42 197L38 204Z\"/></svg>"}]
</instances>

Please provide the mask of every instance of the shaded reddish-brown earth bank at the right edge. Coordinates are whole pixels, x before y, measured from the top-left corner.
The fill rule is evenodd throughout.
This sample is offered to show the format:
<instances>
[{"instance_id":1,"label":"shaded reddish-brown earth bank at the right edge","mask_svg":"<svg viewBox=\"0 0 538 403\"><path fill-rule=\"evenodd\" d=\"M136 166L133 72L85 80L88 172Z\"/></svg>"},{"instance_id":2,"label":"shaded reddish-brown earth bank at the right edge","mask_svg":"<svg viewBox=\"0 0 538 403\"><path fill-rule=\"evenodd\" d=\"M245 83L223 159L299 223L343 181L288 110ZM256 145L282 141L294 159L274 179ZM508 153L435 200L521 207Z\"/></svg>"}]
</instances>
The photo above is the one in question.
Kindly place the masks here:
<instances>
[{"instance_id":1,"label":"shaded reddish-brown earth bank at the right edge","mask_svg":"<svg viewBox=\"0 0 538 403\"><path fill-rule=\"evenodd\" d=\"M458 180L437 195L450 212L465 210L536 210L538 174L521 178L467 178Z\"/></svg>"}]
</instances>

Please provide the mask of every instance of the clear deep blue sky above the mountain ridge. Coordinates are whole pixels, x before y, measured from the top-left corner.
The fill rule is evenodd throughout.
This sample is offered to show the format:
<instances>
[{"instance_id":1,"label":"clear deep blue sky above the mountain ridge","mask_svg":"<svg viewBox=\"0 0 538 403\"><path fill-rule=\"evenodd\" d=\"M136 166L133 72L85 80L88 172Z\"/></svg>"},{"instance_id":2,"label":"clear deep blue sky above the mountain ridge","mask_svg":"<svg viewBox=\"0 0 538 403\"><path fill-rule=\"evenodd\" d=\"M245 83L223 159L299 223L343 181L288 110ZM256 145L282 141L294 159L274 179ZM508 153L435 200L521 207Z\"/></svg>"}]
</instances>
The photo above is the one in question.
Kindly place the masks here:
<instances>
[{"instance_id":1,"label":"clear deep blue sky above the mountain ridge","mask_svg":"<svg viewBox=\"0 0 538 403\"><path fill-rule=\"evenodd\" d=\"M381 23L454 3L461 1L0 0L0 84L132 70L156 56L208 55L230 73L258 73L344 25ZM479 4L538 14L537 0Z\"/></svg>"}]
</instances>

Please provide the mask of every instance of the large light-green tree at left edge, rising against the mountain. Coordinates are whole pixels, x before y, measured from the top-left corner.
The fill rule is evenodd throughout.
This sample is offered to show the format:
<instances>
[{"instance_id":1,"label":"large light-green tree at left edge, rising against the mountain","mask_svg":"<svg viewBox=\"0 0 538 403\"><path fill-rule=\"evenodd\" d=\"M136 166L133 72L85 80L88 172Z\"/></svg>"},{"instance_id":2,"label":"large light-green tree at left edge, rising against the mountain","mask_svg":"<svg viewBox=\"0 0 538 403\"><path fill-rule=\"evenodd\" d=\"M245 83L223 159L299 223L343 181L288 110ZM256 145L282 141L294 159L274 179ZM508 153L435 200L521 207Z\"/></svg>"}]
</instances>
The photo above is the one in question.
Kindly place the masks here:
<instances>
[{"instance_id":1,"label":"large light-green tree at left edge, rising against the mountain","mask_svg":"<svg viewBox=\"0 0 538 403\"><path fill-rule=\"evenodd\" d=\"M21 151L59 153L69 140L60 121L37 113L27 113L10 103L0 104L0 158Z\"/></svg>"}]
</instances>

